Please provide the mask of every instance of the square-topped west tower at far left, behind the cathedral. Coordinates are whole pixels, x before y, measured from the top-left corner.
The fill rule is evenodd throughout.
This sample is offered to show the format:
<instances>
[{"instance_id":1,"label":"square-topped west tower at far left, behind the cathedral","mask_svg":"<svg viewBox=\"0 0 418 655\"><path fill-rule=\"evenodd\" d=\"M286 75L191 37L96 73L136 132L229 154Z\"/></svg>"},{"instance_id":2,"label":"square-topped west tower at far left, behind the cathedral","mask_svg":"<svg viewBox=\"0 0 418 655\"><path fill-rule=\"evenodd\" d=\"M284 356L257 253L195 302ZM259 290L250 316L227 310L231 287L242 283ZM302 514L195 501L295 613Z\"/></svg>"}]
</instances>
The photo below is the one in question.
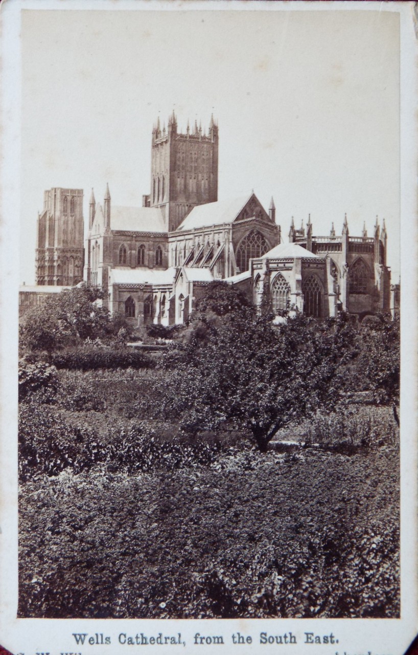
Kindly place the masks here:
<instances>
[{"instance_id":1,"label":"square-topped west tower at far left, behind the cathedral","mask_svg":"<svg viewBox=\"0 0 418 655\"><path fill-rule=\"evenodd\" d=\"M37 223L36 284L72 286L82 280L82 199L82 189L44 191Z\"/></svg>"}]
</instances>

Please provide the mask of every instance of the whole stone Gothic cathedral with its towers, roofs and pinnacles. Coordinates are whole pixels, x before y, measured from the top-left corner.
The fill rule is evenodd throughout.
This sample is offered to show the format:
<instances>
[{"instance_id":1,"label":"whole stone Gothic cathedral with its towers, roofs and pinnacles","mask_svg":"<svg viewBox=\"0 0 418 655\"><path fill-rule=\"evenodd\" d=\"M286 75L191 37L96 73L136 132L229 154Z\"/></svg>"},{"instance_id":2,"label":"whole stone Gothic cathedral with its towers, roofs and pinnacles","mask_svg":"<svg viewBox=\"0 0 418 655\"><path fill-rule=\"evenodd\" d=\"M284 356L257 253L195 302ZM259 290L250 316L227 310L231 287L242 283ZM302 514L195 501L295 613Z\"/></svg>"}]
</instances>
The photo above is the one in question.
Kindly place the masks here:
<instances>
[{"instance_id":1,"label":"whole stone Gothic cathedral with its towers, roofs and pinnacles","mask_svg":"<svg viewBox=\"0 0 418 655\"><path fill-rule=\"evenodd\" d=\"M315 236L310 217L300 229L292 219L284 243L273 198L268 211L253 191L218 200L213 117L208 134L196 122L181 134L174 112L167 130L157 122L150 194L142 207L114 206L109 186L103 203L92 191L84 234L82 202L82 189L44 192L37 225L38 295L84 280L101 286L109 310L138 327L183 323L213 280L236 284L256 305L268 286L271 309L281 315L296 310L322 318L345 310L361 319L393 312L397 304L384 221L380 229L376 219L371 236L366 227L351 236L345 217L341 234L333 224L328 235Z\"/></svg>"}]
</instances>

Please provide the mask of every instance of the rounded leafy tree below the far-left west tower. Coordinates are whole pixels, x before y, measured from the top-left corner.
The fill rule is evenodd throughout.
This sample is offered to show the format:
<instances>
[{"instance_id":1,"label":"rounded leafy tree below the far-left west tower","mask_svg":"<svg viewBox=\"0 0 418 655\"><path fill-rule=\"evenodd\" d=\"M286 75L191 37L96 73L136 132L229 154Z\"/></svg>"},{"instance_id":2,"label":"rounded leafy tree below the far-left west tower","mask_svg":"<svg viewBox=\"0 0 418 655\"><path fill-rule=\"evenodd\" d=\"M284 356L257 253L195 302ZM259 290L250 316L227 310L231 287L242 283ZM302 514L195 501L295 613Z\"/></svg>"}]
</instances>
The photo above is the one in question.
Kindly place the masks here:
<instances>
[{"instance_id":1,"label":"rounded leafy tree below the far-left west tower","mask_svg":"<svg viewBox=\"0 0 418 655\"><path fill-rule=\"evenodd\" d=\"M110 324L109 312L96 303L102 298L101 290L85 284L48 297L27 312L20 328L20 344L50 352L99 337Z\"/></svg>"}]
</instances>

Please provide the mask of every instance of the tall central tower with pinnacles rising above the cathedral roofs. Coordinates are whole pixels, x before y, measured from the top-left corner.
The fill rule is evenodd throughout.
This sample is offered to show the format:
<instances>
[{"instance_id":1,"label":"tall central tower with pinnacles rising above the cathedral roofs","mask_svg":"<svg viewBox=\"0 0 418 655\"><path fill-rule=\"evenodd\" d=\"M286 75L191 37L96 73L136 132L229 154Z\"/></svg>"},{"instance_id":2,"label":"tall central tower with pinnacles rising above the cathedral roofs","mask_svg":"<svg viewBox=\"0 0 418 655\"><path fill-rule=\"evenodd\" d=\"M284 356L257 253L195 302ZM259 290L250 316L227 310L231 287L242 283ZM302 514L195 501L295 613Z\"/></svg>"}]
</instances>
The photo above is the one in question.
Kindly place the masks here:
<instances>
[{"instance_id":1,"label":"tall central tower with pinnacles rising above the cathedral roofs","mask_svg":"<svg viewBox=\"0 0 418 655\"><path fill-rule=\"evenodd\" d=\"M196 205L218 200L218 126L211 117L208 134L201 124L177 132L173 111L161 130L152 130L151 189L144 204L160 207L167 231L173 232Z\"/></svg>"}]
</instances>

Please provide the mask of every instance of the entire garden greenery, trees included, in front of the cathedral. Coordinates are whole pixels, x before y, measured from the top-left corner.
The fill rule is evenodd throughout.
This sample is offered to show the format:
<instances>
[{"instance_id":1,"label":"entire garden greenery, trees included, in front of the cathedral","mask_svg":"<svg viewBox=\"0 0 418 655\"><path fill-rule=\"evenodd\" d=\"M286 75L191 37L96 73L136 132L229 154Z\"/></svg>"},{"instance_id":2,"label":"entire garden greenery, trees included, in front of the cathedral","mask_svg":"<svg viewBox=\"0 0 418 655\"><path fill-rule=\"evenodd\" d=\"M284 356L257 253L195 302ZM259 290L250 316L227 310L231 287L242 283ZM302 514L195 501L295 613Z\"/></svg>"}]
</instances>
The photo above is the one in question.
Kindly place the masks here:
<instances>
[{"instance_id":1,"label":"entire garden greenery, trees included, in front of the cathedral","mask_svg":"<svg viewBox=\"0 0 418 655\"><path fill-rule=\"evenodd\" d=\"M214 282L151 352L100 297L21 327L19 616L398 617L398 322Z\"/></svg>"}]
</instances>

